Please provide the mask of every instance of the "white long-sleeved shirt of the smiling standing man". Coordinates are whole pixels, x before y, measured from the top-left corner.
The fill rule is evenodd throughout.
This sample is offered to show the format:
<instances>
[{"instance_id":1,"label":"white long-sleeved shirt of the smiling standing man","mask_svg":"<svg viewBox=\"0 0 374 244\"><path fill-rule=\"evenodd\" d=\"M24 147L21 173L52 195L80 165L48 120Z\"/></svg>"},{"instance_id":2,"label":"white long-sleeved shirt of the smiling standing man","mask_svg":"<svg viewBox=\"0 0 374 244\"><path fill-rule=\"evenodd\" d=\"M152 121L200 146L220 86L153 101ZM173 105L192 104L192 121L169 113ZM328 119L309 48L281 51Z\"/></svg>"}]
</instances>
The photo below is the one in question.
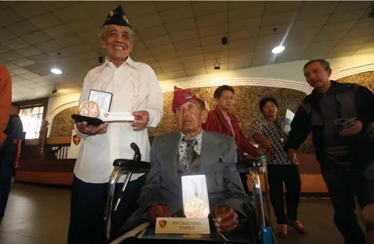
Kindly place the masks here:
<instances>
[{"instance_id":1,"label":"white long-sleeved shirt of the smiling standing man","mask_svg":"<svg viewBox=\"0 0 374 244\"><path fill-rule=\"evenodd\" d=\"M130 57L116 68L108 57L105 64L93 68L84 79L79 105L88 100L90 90L112 93L111 112L148 111L148 126L155 127L162 117L162 91L152 68L147 64L134 62ZM109 122L108 130L102 135L84 135L74 167L74 174L80 180L91 183L108 182L115 159L133 159L135 142L142 154L142 161L149 162L149 138L147 128L134 131L131 122ZM136 180L142 174L133 174ZM125 176L121 176L123 182Z\"/></svg>"}]
</instances>

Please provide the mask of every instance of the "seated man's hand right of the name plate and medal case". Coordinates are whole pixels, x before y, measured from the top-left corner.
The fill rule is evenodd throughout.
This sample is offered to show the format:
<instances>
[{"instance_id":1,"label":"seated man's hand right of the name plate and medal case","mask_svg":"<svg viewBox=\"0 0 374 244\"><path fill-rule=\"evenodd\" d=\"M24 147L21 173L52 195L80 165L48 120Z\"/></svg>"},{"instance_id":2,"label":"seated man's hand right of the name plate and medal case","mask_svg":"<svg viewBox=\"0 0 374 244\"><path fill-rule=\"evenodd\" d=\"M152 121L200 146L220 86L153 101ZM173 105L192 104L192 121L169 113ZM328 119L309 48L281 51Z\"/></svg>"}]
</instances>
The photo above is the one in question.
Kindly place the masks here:
<instances>
[{"instance_id":1,"label":"seated man's hand right of the name plate and medal case","mask_svg":"<svg viewBox=\"0 0 374 244\"><path fill-rule=\"evenodd\" d=\"M214 226L219 232L233 232L238 226L238 214L227 205L214 207Z\"/></svg>"}]
</instances>

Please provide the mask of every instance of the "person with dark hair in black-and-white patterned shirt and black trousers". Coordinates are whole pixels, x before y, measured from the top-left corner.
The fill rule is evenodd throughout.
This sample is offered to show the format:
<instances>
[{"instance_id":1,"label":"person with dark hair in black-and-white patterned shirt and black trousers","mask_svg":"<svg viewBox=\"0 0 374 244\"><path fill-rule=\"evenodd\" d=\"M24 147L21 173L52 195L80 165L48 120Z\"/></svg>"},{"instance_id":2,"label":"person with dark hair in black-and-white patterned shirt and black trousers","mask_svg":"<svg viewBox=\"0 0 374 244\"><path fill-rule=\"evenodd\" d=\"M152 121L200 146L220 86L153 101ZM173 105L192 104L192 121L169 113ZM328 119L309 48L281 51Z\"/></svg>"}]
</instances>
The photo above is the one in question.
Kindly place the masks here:
<instances>
[{"instance_id":1,"label":"person with dark hair in black-and-white patterned shirt and black trousers","mask_svg":"<svg viewBox=\"0 0 374 244\"><path fill-rule=\"evenodd\" d=\"M278 107L275 98L262 98L260 110L264 118L258 118L253 123L253 139L270 154L268 157L269 195L275 217L277 217L277 236L285 238L287 224L299 233L304 234L306 230L297 220L301 190L299 169L297 161L289 161L284 151L287 135L282 129L284 118L277 118ZM287 215L284 211L283 183L287 191Z\"/></svg>"}]
</instances>

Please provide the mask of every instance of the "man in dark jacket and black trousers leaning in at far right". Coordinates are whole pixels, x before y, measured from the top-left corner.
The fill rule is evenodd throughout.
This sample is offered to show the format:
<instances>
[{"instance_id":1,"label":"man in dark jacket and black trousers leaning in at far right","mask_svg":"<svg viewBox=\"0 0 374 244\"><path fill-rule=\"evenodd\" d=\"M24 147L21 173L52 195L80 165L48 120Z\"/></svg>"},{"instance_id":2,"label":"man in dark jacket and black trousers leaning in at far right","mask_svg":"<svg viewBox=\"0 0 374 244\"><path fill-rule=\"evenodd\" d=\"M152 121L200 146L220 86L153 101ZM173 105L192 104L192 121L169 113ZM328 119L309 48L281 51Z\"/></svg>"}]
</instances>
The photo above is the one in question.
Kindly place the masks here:
<instances>
[{"instance_id":1,"label":"man in dark jacket and black trousers leaning in at far right","mask_svg":"<svg viewBox=\"0 0 374 244\"><path fill-rule=\"evenodd\" d=\"M373 181L363 177L364 167L373 157L369 132L374 122L374 94L360 85L330 81L332 70L323 59L308 62L303 72L314 90L292 120L288 158L293 160L295 150L312 131L336 227L346 244L363 244L365 235L357 222L354 197L361 207L374 202Z\"/></svg>"}]
</instances>

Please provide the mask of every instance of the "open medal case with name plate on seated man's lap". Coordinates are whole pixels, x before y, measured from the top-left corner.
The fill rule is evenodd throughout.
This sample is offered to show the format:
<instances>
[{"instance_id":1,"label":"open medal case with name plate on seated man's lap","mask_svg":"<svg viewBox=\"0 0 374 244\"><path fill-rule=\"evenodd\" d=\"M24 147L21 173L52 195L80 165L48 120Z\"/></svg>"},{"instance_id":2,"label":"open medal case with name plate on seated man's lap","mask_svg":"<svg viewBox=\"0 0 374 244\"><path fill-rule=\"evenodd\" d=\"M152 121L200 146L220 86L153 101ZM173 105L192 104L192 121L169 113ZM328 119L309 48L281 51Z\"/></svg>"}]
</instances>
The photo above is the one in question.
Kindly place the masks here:
<instances>
[{"instance_id":1,"label":"open medal case with name plate on seated man's lap","mask_svg":"<svg viewBox=\"0 0 374 244\"><path fill-rule=\"evenodd\" d=\"M204 174L182 176L185 217L156 220L156 234L210 234L208 186Z\"/></svg>"}]
</instances>

